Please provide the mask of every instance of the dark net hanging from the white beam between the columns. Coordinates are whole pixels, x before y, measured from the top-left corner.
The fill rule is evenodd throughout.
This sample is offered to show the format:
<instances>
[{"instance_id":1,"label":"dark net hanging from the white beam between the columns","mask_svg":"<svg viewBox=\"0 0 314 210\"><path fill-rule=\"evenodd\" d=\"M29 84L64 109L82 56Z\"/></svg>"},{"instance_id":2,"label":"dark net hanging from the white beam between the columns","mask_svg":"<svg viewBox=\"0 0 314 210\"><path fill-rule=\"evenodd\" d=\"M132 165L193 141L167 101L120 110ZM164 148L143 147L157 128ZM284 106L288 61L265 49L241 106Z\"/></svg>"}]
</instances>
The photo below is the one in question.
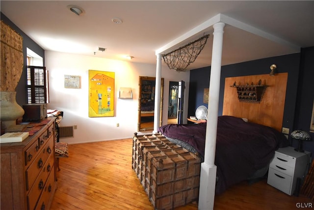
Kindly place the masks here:
<instances>
[{"instance_id":1,"label":"dark net hanging from the white beam between the columns","mask_svg":"<svg viewBox=\"0 0 314 210\"><path fill-rule=\"evenodd\" d=\"M187 66L194 62L197 56L201 53L208 37L209 34L202 36L201 38L190 42L183 47L171 51L170 53L162 55L164 62L170 69L184 71Z\"/></svg>"}]
</instances>

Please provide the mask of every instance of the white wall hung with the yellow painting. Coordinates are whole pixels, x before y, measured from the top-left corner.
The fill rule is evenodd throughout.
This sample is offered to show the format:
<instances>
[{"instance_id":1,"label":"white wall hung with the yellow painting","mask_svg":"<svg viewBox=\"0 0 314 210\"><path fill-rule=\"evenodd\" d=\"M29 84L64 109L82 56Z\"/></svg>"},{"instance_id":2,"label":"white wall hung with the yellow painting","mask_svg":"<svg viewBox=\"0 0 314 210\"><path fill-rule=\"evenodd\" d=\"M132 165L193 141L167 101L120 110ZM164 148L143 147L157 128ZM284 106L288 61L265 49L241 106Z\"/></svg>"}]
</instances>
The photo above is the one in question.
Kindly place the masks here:
<instances>
[{"instance_id":1,"label":"white wall hung with the yellow painting","mask_svg":"<svg viewBox=\"0 0 314 210\"><path fill-rule=\"evenodd\" d=\"M131 138L137 132L139 76L156 76L156 64L109 60L54 51L45 51L45 66L49 70L50 103L48 109L64 112L61 126L77 125L74 138L62 141L73 143L97 142ZM88 70L115 72L114 117L88 117ZM64 75L81 76L80 89L64 88ZM183 122L186 123L189 71L176 72L162 66L164 78L163 124L168 116L169 81L185 81ZM120 87L130 87L133 99L119 99ZM119 123L119 127L116 124Z\"/></svg>"}]
</instances>

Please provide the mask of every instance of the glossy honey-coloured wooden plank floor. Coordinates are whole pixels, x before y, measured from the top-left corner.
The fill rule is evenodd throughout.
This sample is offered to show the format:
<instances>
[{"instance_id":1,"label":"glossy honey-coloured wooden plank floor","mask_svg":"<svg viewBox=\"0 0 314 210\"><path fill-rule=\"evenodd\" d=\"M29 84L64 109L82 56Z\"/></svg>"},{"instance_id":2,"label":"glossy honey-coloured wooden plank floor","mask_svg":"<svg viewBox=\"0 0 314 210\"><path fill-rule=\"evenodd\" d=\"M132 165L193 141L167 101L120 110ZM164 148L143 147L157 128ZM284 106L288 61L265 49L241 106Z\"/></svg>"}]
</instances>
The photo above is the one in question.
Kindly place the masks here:
<instances>
[{"instance_id":1,"label":"glossy honey-coloured wooden plank floor","mask_svg":"<svg viewBox=\"0 0 314 210\"><path fill-rule=\"evenodd\" d=\"M153 210L131 168L132 140L69 146L70 157L60 159L58 188L51 210ZM268 185L246 181L215 197L215 210L294 210L297 203L314 201ZM197 210L197 203L176 210Z\"/></svg>"}]
</instances>

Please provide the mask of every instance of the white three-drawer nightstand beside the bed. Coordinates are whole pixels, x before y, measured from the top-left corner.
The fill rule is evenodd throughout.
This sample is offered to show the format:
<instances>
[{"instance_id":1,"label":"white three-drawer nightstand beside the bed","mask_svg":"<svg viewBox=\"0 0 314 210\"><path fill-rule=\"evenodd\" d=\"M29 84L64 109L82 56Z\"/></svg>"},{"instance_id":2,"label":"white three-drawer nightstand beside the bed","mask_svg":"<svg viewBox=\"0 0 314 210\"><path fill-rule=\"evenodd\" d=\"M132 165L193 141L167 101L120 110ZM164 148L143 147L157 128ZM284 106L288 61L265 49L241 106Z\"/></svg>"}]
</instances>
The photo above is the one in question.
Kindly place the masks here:
<instances>
[{"instance_id":1,"label":"white three-drawer nightstand beside the bed","mask_svg":"<svg viewBox=\"0 0 314 210\"><path fill-rule=\"evenodd\" d=\"M270 162L267 183L292 195L297 187L302 186L308 173L311 152L295 151L293 147L279 148Z\"/></svg>"}]
</instances>

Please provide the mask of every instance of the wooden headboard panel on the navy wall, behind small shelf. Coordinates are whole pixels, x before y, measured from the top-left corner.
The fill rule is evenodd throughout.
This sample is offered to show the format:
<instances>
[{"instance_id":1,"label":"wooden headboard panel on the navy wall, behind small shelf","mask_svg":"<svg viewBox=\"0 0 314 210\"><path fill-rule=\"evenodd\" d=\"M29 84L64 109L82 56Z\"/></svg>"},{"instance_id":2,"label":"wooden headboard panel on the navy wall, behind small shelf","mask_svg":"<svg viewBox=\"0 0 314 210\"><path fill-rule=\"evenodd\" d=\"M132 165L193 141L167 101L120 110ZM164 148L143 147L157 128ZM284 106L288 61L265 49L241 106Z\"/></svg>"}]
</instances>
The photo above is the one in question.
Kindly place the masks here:
<instances>
[{"instance_id":1,"label":"wooden headboard panel on the navy wall, behind small shelf","mask_svg":"<svg viewBox=\"0 0 314 210\"><path fill-rule=\"evenodd\" d=\"M267 88L258 103L239 101L237 90L233 86L257 84L259 80ZM230 115L239 118L247 118L251 122L267 125L282 130L288 73L280 73L275 76L268 74L228 77L225 79L225 92L223 115Z\"/></svg>"}]
</instances>

